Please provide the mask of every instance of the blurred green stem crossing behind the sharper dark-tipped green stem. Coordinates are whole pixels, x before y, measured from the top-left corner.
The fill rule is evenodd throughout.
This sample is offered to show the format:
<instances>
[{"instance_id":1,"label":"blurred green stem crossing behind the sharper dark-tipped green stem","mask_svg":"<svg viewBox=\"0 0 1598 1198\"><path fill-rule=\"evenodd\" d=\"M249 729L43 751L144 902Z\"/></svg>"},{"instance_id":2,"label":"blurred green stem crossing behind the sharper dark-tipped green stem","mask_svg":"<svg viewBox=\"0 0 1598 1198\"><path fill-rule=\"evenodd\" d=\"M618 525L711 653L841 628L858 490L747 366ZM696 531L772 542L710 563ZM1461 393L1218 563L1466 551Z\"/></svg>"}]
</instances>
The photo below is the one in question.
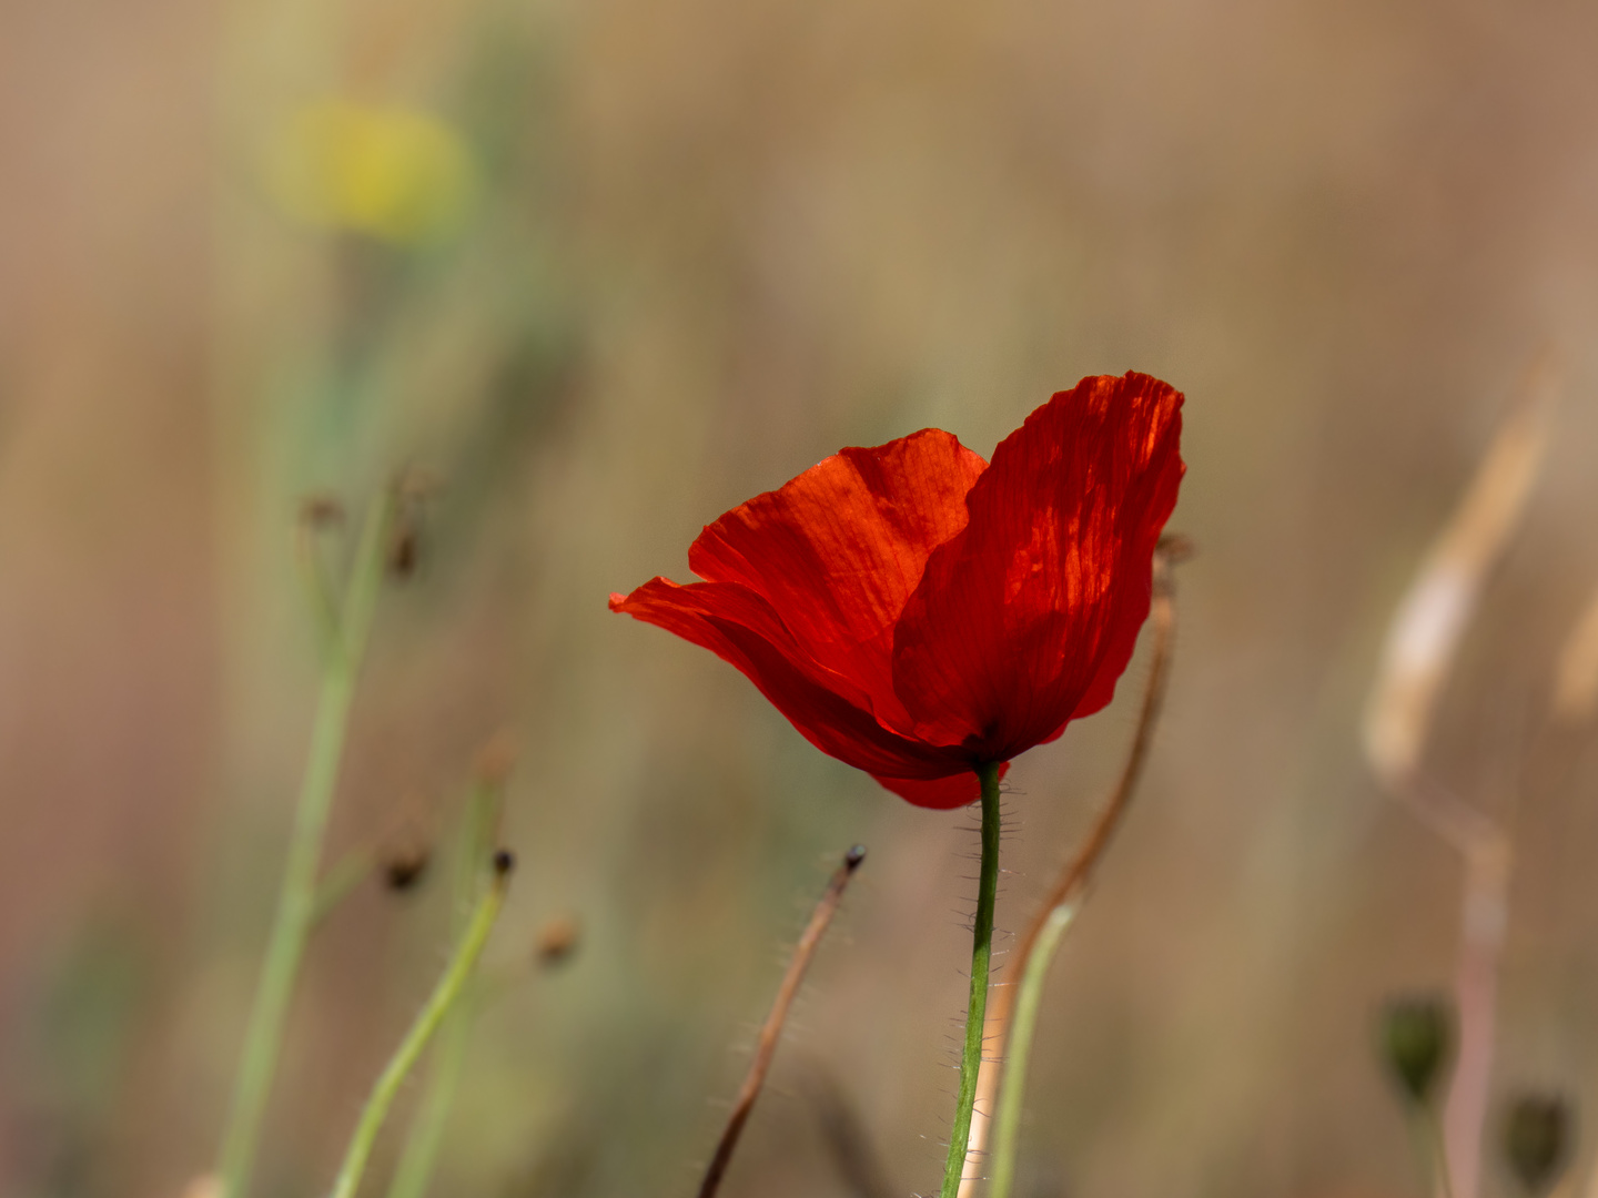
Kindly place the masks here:
<instances>
[{"instance_id":1,"label":"blurred green stem crossing behind the sharper dark-tipped green stem","mask_svg":"<svg viewBox=\"0 0 1598 1198\"><path fill-rule=\"evenodd\" d=\"M460 829L460 853L455 866L455 910L462 920L471 912L471 904L483 891L489 845L494 824L499 821L499 781L479 779L467 802L467 816ZM462 933L463 928L457 928ZM438 1163L438 1150L444 1142L444 1125L455 1102L455 1088L467 1064L467 1045L471 1041L471 1024L481 1000L481 987L473 986L451 1010L439 1032L438 1049L427 1078L427 1089L411 1117L411 1128L388 1184L388 1198L425 1198Z\"/></svg>"}]
</instances>

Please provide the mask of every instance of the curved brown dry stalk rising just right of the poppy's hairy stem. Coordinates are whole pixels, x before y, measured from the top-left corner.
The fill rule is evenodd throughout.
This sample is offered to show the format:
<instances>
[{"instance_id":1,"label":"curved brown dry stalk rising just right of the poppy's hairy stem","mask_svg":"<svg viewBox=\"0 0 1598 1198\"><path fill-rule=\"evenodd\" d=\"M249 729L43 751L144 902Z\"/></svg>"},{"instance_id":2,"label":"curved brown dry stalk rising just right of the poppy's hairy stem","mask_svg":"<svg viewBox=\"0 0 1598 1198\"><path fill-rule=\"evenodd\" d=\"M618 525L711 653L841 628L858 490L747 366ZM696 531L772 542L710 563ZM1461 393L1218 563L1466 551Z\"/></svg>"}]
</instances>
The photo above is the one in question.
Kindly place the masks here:
<instances>
[{"instance_id":1,"label":"curved brown dry stalk rising just right of the poppy's hairy stem","mask_svg":"<svg viewBox=\"0 0 1598 1198\"><path fill-rule=\"evenodd\" d=\"M1187 551L1187 543L1179 538L1162 540L1160 548L1155 551L1154 601L1149 605L1149 623L1154 626L1154 645L1151 649L1149 680L1143 693L1143 708L1138 712L1138 730L1133 733L1131 748L1127 752L1127 762L1122 767L1120 778L1115 783L1115 789L1111 792L1109 802L1104 803L1104 808L1099 811L1098 819L1095 819L1093 827L1088 831L1087 839L1077 848L1075 855L1066 867L1059 871L1059 875L1055 879L1055 885L1043 898L1043 902L1039 904L1037 914L1032 917L1032 922L1028 925L1020 942L1016 944L1015 955L1008 965L1013 971L1013 981L997 987L994 992L989 1005L986 1032L986 1040L992 1048L992 1057L984 1065L976 1088L976 1105L981 1110L992 1112L994 1099L999 1094L999 1080L1004 1072L1012 1018L1015 1014L1021 982L1028 976L1028 965L1037 952L1039 944L1045 936L1048 936L1050 923L1055 920L1055 912L1061 909L1074 909L1080 901L1088 882L1093 877L1095 867L1104 856L1104 850L1109 848L1115 831L1120 827L1120 819L1127 813L1127 805L1131 802L1131 795L1138 789L1138 779L1143 776L1143 767L1149 756L1149 744L1154 741L1154 725L1159 719L1160 706L1165 701L1165 685L1170 679L1171 664L1171 641L1176 633L1176 602L1171 591L1171 565L1186 557ZM1064 926L1059 923L1058 931L1055 931L1050 938L1051 946L1058 946L1063 931ZM970 1164L973 1163L973 1158L978 1158L986 1148L991 1126L992 1120L984 1120L973 1129L972 1144L965 1158L967 1177L960 1185L959 1198L970 1198L975 1193L978 1177L972 1171Z\"/></svg>"}]
</instances>

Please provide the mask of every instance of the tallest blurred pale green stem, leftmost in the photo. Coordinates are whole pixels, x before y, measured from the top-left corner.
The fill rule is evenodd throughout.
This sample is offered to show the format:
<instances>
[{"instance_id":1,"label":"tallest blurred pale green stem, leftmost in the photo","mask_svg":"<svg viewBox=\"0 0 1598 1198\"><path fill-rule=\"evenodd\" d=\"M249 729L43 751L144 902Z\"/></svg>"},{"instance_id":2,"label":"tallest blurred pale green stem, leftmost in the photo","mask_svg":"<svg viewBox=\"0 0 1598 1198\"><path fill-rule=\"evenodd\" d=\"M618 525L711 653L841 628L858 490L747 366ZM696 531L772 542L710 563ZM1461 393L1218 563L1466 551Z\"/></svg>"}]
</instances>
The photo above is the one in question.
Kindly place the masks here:
<instances>
[{"instance_id":1,"label":"tallest blurred pale green stem, leftmost in the photo","mask_svg":"<svg viewBox=\"0 0 1598 1198\"><path fill-rule=\"evenodd\" d=\"M316 701L305 776L294 811L278 912L256 987L227 1131L222 1136L222 1153L217 1161L222 1198L246 1195L260 1139L260 1118L265 1113L283 1045L283 1025L294 992L294 978L318 915L316 871L321 863L321 842L339 781L339 764L344 759L355 682L382 586L390 513L392 498L385 492L372 503L361 529L344 593L344 609L339 613L337 636L328 647L323 664L321 695Z\"/></svg>"}]
</instances>

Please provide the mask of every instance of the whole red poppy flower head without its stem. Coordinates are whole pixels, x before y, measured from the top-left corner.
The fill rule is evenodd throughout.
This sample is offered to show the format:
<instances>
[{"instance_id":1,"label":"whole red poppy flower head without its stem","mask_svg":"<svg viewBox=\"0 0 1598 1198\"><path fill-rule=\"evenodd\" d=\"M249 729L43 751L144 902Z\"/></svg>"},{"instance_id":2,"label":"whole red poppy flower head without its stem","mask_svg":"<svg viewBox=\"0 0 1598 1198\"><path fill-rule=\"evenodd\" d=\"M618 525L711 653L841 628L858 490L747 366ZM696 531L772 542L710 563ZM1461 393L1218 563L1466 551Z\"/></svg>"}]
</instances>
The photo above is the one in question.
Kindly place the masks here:
<instances>
[{"instance_id":1,"label":"whole red poppy flower head without its stem","mask_svg":"<svg viewBox=\"0 0 1598 1198\"><path fill-rule=\"evenodd\" d=\"M1083 379L994 450L936 428L844 449L708 526L705 581L610 610L741 669L821 752L920 807L976 799L1115 693L1183 478L1183 396Z\"/></svg>"}]
</instances>

